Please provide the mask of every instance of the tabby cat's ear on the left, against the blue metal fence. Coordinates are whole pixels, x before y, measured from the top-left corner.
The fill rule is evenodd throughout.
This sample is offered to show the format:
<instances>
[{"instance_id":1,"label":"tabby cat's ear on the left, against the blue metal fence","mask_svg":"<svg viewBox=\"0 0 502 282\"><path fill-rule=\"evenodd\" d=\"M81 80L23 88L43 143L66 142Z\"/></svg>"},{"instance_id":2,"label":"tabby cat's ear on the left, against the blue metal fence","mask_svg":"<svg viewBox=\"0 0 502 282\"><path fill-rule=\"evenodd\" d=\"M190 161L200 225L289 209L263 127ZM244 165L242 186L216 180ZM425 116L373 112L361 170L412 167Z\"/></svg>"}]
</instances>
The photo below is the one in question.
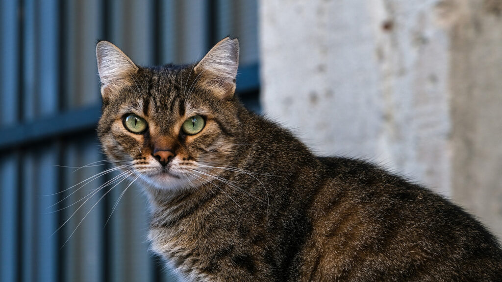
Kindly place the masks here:
<instances>
[{"instance_id":1,"label":"tabby cat's ear on the left, against the blue metal fence","mask_svg":"<svg viewBox=\"0 0 502 282\"><path fill-rule=\"evenodd\" d=\"M122 50L108 41L98 42L96 59L103 98L108 98L111 93L131 84L131 75L139 69Z\"/></svg>"}]
</instances>

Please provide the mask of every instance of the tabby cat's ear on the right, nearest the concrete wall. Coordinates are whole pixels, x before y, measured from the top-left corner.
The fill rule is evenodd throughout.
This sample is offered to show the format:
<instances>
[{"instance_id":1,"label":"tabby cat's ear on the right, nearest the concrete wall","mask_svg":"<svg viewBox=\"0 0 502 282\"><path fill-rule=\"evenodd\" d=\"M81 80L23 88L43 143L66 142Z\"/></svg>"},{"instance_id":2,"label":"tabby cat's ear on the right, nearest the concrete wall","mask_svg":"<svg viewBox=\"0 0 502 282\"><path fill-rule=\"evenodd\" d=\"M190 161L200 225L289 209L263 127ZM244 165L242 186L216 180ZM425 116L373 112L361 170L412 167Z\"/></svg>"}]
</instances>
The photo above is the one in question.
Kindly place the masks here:
<instances>
[{"instance_id":1,"label":"tabby cat's ear on the right, nearest the concrete wall","mask_svg":"<svg viewBox=\"0 0 502 282\"><path fill-rule=\"evenodd\" d=\"M227 37L214 45L193 70L200 75L200 86L222 99L228 99L235 92L238 64L239 42Z\"/></svg>"}]
</instances>

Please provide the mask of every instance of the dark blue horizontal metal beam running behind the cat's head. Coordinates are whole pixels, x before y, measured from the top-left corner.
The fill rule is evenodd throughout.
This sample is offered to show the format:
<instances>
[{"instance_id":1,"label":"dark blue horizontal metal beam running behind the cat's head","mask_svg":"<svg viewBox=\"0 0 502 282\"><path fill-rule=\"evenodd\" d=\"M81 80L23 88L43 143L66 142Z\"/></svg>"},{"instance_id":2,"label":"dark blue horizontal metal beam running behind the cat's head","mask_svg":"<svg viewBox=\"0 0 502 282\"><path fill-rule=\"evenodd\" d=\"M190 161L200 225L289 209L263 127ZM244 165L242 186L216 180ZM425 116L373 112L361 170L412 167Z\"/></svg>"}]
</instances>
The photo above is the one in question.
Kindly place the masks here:
<instances>
[{"instance_id":1,"label":"dark blue horizontal metal beam running behind the cat's head","mask_svg":"<svg viewBox=\"0 0 502 282\"><path fill-rule=\"evenodd\" d=\"M236 91L243 96L246 96L245 93L258 91L260 89L258 64L239 68L236 83ZM96 104L0 128L0 151L95 130L100 115L101 105Z\"/></svg>"}]
</instances>

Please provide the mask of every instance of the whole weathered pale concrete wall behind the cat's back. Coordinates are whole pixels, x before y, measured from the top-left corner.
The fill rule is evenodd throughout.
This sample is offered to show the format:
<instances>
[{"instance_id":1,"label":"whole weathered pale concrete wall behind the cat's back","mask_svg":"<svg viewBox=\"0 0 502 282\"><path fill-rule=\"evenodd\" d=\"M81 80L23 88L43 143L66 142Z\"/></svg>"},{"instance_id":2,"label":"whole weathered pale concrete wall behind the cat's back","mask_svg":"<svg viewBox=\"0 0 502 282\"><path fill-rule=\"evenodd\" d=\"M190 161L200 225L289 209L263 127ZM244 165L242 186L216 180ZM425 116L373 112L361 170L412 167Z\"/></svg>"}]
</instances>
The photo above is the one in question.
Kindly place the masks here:
<instances>
[{"instance_id":1,"label":"whole weathered pale concrete wall behind the cat's back","mask_svg":"<svg viewBox=\"0 0 502 282\"><path fill-rule=\"evenodd\" d=\"M365 158L502 234L502 1L263 0L262 103L319 155Z\"/></svg>"}]
</instances>

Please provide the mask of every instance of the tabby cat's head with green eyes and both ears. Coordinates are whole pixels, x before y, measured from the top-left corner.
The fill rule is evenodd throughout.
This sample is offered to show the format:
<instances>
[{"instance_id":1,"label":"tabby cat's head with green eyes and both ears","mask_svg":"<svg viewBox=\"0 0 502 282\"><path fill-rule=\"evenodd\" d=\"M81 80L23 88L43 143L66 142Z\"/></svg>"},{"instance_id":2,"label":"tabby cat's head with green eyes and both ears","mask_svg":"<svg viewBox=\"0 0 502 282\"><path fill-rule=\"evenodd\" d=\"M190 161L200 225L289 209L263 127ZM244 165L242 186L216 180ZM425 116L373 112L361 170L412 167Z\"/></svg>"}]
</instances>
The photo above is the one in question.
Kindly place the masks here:
<instances>
[{"instance_id":1,"label":"tabby cat's head with green eyes and both ears","mask_svg":"<svg viewBox=\"0 0 502 282\"><path fill-rule=\"evenodd\" d=\"M159 189L214 180L241 135L234 97L238 54L238 41L225 38L196 64L140 67L113 44L99 42L98 136L108 158Z\"/></svg>"}]
</instances>

